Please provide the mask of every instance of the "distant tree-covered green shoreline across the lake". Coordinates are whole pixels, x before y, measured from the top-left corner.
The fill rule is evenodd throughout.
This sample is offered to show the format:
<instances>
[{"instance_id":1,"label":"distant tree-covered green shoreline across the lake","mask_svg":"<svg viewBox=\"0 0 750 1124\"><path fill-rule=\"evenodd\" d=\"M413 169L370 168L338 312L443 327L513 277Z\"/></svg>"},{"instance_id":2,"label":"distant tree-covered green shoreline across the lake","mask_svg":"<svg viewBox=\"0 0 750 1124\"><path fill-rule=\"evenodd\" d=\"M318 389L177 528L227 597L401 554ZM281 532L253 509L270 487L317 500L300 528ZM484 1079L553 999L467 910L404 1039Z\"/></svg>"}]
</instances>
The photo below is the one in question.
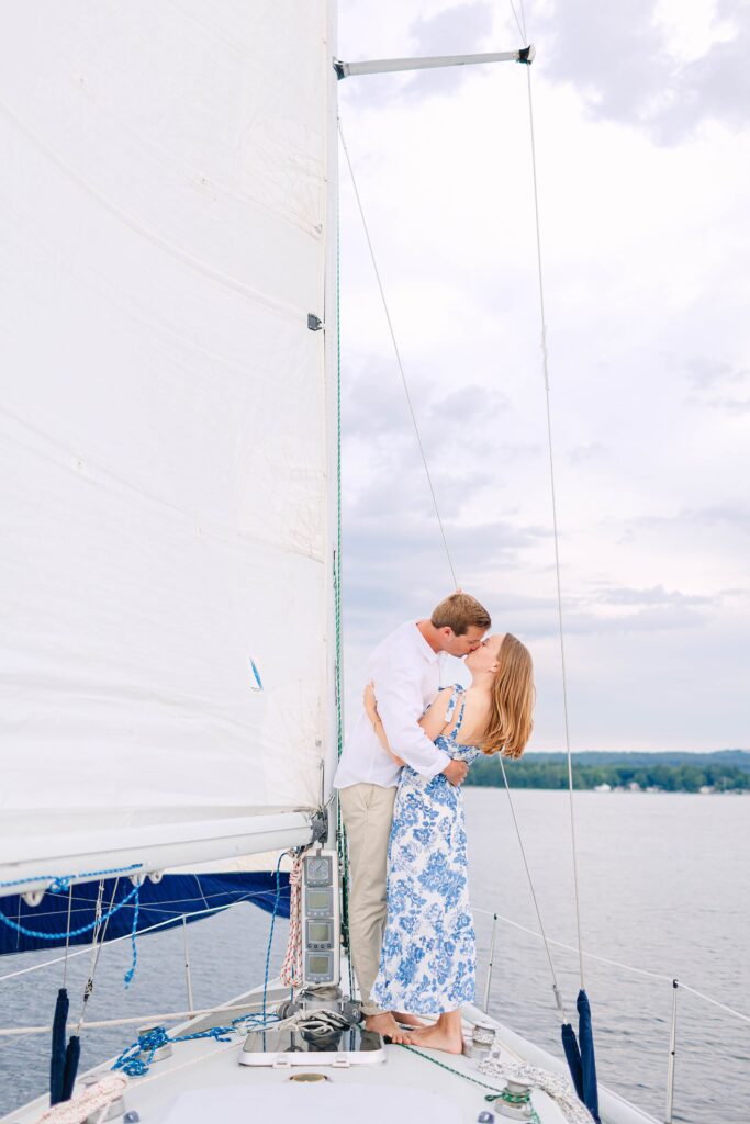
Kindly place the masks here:
<instances>
[{"instance_id":1,"label":"distant tree-covered green shoreline across the lake","mask_svg":"<svg viewBox=\"0 0 750 1124\"><path fill-rule=\"evenodd\" d=\"M564 753L528 753L505 761L510 788L561 790L568 788ZM750 751L716 753L573 753L573 788L598 792L750 792ZM466 783L476 788L504 785L493 758L479 758Z\"/></svg>"}]
</instances>

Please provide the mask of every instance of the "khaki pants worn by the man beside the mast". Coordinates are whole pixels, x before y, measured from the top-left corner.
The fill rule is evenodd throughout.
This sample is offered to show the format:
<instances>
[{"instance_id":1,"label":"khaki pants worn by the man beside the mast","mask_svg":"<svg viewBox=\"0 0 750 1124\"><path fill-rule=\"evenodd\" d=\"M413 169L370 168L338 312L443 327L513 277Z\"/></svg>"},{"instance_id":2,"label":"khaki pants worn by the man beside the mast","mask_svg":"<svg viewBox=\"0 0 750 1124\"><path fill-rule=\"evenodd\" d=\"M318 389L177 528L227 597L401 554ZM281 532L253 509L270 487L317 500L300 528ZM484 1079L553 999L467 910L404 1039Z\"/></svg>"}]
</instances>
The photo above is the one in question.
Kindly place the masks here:
<instances>
[{"instance_id":1,"label":"khaki pants worn by the man beside the mast","mask_svg":"<svg viewBox=\"0 0 750 1124\"><path fill-rule=\"evenodd\" d=\"M365 1015L380 1012L370 999L386 927L388 839L396 787L350 785L338 792L349 842L351 957Z\"/></svg>"}]
</instances>

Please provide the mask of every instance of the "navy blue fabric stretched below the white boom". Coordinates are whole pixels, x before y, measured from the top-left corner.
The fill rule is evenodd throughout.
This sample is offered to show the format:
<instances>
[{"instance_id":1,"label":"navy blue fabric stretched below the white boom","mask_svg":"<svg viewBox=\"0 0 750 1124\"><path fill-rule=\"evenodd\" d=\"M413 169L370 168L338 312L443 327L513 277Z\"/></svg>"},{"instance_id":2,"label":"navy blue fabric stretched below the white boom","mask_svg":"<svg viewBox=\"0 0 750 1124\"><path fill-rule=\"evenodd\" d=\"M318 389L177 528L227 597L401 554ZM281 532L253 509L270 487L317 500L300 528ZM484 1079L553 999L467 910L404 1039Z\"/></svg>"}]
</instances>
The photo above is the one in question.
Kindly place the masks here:
<instances>
[{"instance_id":1,"label":"navy blue fabric stretched below the white boom","mask_svg":"<svg viewBox=\"0 0 750 1124\"><path fill-rule=\"evenodd\" d=\"M133 885L127 878L105 879L102 895L102 913L111 905L127 897ZM289 876L279 874L279 903L277 916L289 916ZM112 894L115 895L112 901ZM18 894L0 898L0 912L22 928L44 933L44 936L27 936L6 923L0 922L0 954L29 952L34 949L54 949L65 945L67 930L67 910L70 905L70 930L75 934L93 922L96 916L99 882L81 882L73 886L72 901L70 891L47 891L36 907L26 905ZM268 913L273 913L277 898L275 873L253 871L252 873L232 872L226 874L165 874L161 882L148 879L141 887L137 932L160 925L156 932L182 924L187 915L189 922L200 921L210 916L206 910L219 910L240 901L249 901L260 906ZM135 900L130 899L121 909L111 915L107 922L106 941L128 936L133 930ZM198 916L190 916L198 914ZM70 944L90 944L91 930L79 935L72 935ZM99 934L101 939L101 934Z\"/></svg>"}]
</instances>

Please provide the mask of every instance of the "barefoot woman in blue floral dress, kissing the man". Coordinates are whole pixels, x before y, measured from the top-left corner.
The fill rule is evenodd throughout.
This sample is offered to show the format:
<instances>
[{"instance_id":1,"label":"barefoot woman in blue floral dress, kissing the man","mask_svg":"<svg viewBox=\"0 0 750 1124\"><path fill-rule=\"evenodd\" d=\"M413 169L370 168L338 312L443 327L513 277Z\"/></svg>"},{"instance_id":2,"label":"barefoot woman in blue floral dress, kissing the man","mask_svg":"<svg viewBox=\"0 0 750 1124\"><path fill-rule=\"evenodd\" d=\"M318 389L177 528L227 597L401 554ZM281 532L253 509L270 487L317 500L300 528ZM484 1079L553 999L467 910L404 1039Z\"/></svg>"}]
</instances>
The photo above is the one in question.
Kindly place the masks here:
<instances>
[{"instance_id":1,"label":"barefoot woman in blue floral dress, kissing the man","mask_svg":"<svg viewBox=\"0 0 750 1124\"><path fill-rule=\"evenodd\" d=\"M469 764L480 753L519 758L533 725L531 655L506 633L488 636L466 665L471 686L439 694L422 718L425 733ZM390 753L371 688L365 707ZM436 1023L409 1031L405 1041L449 1053L461 1053L461 1005L475 998L467 872L461 789L442 773L426 781L405 765L388 845L388 918L372 995L385 1010L440 1014Z\"/></svg>"}]
</instances>

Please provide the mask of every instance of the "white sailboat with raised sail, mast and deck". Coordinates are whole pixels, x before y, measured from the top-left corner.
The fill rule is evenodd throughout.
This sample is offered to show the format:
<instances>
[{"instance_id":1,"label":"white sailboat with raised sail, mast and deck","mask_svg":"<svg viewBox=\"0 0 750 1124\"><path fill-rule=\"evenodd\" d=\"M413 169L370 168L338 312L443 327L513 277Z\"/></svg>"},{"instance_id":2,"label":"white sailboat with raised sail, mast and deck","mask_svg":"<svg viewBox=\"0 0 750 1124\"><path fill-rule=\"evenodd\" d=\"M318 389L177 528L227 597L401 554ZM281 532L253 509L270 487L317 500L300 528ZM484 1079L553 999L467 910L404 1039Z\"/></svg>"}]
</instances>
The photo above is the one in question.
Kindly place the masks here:
<instances>
[{"instance_id":1,"label":"white sailboat with raised sail, mast and deck","mask_svg":"<svg viewBox=\"0 0 750 1124\"><path fill-rule=\"evenodd\" d=\"M460 1058L361 1030L332 788L337 84L533 49L350 65L325 0L210 20L200 3L45 2L13 33L2 922L17 946L67 948L126 916L135 953L141 901L174 871L271 853L252 885L275 916L291 851L299 941L291 985L141 1028L67 1099L8 1120L590 1120L560 1059L477 1007ZM652 1122L606 1089L599 1106Z\"/></svg>"}]
</instances>

